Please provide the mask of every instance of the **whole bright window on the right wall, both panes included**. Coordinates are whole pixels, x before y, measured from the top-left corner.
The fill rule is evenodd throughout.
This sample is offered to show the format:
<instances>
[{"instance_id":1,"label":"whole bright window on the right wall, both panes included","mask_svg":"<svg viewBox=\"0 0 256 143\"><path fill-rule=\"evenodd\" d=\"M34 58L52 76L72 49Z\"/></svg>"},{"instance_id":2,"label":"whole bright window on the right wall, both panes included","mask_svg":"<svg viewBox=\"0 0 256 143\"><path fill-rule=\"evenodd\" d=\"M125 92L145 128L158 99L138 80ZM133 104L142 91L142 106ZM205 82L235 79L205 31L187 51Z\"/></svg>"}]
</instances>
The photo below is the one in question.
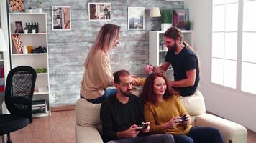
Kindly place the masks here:
<instances>
[{"instance_id":1,"label":"whole bright window on the right wall, both panes included","mask_svg":"<svg viewBox=\"0 0 256 143\"><path fill-rule=\"evenodd\" d=\"M212 6L211 82L256 94L256 0L213 0Z\"/></svg>"}]
</instances>

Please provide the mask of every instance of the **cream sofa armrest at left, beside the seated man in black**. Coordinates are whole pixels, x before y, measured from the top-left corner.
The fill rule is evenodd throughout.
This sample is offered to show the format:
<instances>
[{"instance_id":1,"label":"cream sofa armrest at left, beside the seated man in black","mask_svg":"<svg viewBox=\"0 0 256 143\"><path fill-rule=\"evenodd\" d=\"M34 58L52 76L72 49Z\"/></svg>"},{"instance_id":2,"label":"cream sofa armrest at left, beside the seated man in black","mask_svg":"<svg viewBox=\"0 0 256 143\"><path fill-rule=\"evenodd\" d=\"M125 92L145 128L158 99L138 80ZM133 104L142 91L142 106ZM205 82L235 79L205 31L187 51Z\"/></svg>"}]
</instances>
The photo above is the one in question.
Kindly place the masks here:
<instances>
[{"instance_id":1,"label":"cream sofa armrest at left, beside the seated man in black","mask_svg":"<svg viewBox=\"0 0 256 143\"><path fill-rule=\"evenodd\" d=\"M75 127L76 143L103 143L101 135L99 134L96 127L93 126L79 126L76 124Z\"/></svg>"}]
</instances>

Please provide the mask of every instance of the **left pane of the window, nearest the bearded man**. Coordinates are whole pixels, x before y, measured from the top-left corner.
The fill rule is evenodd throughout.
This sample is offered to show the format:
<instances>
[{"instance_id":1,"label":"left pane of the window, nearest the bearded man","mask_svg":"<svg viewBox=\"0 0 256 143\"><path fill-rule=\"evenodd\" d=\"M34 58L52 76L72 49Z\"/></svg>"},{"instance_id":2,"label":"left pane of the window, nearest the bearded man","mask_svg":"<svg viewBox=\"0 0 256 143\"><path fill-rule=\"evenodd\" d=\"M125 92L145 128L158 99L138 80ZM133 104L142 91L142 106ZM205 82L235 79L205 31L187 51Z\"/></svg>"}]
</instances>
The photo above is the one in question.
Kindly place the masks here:
<instances>
[{"instance_id":1,"label":"left pane of the window, nearest the bearded man","mask_svg":"<svg viewBox=\"0 0 256 143\"><path fill-rule=\"evenodd\" d=\"M213 1L211 82L236 88L237 0Z\"/></svg>"}]
</instances>

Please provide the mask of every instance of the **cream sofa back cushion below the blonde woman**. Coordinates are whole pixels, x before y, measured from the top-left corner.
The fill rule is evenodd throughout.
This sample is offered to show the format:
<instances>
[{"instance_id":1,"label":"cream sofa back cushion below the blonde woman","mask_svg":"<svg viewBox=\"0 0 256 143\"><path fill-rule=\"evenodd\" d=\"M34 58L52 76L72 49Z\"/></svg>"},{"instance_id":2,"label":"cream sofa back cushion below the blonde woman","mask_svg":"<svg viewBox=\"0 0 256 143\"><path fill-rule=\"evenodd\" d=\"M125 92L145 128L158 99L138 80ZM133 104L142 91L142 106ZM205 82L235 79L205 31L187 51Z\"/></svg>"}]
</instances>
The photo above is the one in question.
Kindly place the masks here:
<instances>
[{"instance_id":1,"label":"cream sofa back cushion below the blonde woman","mask_svg":"<svg viewBox=\"0 0 256 143\"><path fill-rule=\"evenodd\" d=\"M100 120L101 104L93 104L86 99L78 99L76 102L76 124L80 126L98 126Z\"/></svg>"}]
</instances>

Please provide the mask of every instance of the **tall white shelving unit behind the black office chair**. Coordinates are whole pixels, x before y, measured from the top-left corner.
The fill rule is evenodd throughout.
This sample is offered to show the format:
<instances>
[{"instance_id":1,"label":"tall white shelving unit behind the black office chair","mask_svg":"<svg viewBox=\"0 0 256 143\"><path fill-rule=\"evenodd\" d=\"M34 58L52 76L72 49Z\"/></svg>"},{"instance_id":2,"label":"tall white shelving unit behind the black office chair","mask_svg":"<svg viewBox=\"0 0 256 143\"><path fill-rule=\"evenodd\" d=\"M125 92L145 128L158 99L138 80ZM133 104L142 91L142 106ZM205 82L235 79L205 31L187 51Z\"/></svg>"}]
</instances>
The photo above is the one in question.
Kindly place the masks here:
<instances>
[{"instance_id":1,"label":"tall white shelving unit behind the black office chair","mask_svg":"<svg viewBox=\"0 0 256 143\"><path fill-rule=\"evenodd\" d=\"M33 46L35 49L38 46L46 47L47 46L47 15L46 13L9 13L9 39L11 43L11 69L17 66L31 66L34 69L47 69L47 73L37 73L37 81L35 83L35 89L38 89L38 92L34 92L33 100L45 100L46 101L46 113L37 113L33 114L33 117L42 117L50 116L50 84L49 84L49 64L48 64L48 53L28 53L28 54L19 54L15 49L14 43L12 41L12 35L14 33L16 26L15 21L21 21L23 29L25 24L28 22L37 22L38 23L38 33L24 34L18 33L22 41L22 44L25 46ZM48 49L47 49L48 51ZM44 89L40 91L40 89ZM46 90L46 91L45 91Z\"/></svg>"}]
</instances>

